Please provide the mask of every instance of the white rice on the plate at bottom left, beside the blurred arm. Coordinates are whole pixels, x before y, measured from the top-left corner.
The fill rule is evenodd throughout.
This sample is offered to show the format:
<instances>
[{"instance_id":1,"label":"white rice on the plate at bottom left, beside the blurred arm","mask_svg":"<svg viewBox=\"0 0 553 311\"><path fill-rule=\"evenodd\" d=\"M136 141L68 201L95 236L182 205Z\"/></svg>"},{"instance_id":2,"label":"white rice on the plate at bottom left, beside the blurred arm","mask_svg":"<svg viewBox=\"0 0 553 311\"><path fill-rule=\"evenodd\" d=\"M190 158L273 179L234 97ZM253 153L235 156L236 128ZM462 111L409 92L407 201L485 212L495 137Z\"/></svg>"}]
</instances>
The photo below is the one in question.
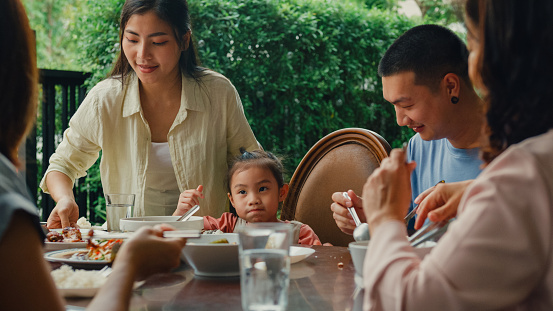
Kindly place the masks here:
<instances>
[{"instance_id":1,"label":"white rice on the plate at bottom left, beside the blurred arm","mask_svg":"<svg viewBox=\"0 0 553 311\"><path fill-rule=\"evenodd\" d=\"M73 270L67 265L53 270L51 275L57 288L98 288L106 282L98 271Z\"/></svg>"}]
</instances>

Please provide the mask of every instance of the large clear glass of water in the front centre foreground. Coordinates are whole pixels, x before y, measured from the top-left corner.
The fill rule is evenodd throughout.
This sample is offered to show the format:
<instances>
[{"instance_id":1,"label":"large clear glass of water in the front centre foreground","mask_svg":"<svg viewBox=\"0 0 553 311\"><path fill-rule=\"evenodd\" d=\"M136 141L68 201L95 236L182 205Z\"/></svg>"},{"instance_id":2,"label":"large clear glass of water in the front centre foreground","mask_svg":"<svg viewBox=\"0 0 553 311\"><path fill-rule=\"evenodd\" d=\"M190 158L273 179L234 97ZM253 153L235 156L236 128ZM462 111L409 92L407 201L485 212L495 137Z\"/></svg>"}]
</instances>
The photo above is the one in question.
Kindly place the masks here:
<instances>
[{"instance_id":1,"label":"large clear glass of water in the front centre foreground","mask_svg":"<svg viewBox=\"0 0 553 311\"><path fill-rule=\"evenodd\" d=\"M250 223L237 231L242 309L286 310L293 226Z\"/></svg>"}]
</instances>

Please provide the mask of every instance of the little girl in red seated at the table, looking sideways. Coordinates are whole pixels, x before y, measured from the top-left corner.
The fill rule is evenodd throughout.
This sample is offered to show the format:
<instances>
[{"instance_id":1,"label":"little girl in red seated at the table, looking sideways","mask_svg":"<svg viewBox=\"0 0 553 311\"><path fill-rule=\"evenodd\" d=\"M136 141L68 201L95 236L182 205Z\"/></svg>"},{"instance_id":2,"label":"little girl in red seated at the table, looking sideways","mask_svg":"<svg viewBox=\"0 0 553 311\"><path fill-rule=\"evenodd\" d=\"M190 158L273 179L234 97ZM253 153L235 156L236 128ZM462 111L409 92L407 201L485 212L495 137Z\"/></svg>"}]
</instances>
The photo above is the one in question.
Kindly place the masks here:
<instances>
[{"instance_id":1,"label":"little girl in red seated at the table, looking sideways","mask_svg":"<svg viewBox=\"0 0 553 311\"><path fill-rule=\"evenodd\" d=\"M282 163L270 152L248 152L244 149L240 149L240 152L241 155L230 164L227 174L227 195L238 216L232 213L223 213L220 218L204 216L205 230L219 229L232 233L237 226L248 222L280 221L276 215L278 206L288 193L288 184L284 183L282 177ZM204 197L201 186L183 194L186 197L186 207L183 210L192 208L198 204L199 198ZM321 241L308 225L298 221L286 222L294 225L294 241L305 245L321 245Z\"/></svg>"}]
</instances>

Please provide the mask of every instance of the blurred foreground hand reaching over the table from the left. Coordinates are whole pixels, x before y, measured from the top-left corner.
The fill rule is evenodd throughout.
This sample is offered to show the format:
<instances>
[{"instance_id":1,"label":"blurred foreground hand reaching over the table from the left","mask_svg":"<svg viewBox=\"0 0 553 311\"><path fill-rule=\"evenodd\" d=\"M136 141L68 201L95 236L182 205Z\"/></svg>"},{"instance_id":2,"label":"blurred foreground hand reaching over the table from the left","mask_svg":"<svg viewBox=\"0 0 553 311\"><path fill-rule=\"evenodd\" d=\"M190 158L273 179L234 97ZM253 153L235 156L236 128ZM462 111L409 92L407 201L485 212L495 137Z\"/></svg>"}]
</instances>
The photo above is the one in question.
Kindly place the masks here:
<instances>
[{"instance_id":1,"label":"blurred foreground hand reaching over the table from the left","mask_svg":"<svg viewBox=\"0 0 553 311\"><path fill-rule=\"evenodd\" d=\"M173 227L169 225L140 228L123 242L113 263L114 269L130 269L135 280L141 280L178 267L186 239L164 238L163 231L171 230Z\"/></svg>"}]
</instances>

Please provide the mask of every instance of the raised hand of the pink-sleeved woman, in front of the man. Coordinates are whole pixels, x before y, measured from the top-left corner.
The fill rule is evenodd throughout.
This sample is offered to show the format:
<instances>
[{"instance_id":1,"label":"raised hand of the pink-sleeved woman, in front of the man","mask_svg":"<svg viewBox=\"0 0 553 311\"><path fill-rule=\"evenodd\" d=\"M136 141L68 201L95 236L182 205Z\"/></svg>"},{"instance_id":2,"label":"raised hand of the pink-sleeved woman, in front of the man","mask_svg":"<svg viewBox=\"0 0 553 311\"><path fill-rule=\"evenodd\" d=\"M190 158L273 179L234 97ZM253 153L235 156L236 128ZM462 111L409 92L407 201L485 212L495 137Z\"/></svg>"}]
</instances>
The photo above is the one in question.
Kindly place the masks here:
<instances>
[{"instance_id":1,"label":"raised hand of the pink-sleeved woman, in front of the man","mask_svg":"<svg viewBox=\"0 0 553 311\"><path fill-rule=\"evenodd\" d=\"M363 210L371 235L387 220L400 220L411 202L411 172L416 163L405 163L405 152L392 150L363 187Z\"/></svg>"}]
</instances>

